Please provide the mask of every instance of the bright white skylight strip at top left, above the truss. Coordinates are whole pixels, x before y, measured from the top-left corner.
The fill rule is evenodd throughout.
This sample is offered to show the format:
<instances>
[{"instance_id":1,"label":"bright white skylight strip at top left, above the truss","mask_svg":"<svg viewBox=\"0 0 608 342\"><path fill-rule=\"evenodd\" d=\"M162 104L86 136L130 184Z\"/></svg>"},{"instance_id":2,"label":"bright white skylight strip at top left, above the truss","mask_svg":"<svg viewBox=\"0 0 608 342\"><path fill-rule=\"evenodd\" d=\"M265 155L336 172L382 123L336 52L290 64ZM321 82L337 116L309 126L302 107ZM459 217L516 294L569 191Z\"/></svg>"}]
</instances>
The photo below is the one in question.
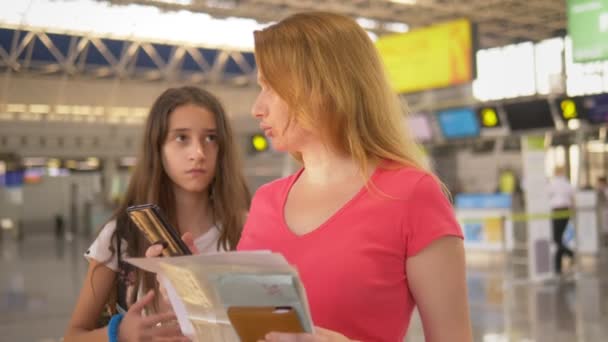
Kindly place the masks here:
<instances>
[{"instance_id":1,"label":"bright white skylight strip at top left, above the truss","mask_svg":"<svg viewBox=\"0 0 608 342\"><path fill-rule=\"evenodd\" d=\"M214 1L217 6L233 2ZM120 6L95 0L37 0L35 6L28 6L29 3L10 1L3 6L0 27L252 51L253 31L266 26L249 18L219 19L187 10L163 11L152 2ZM74 20L65 20L66 17Z\"/></svg>"}]
</instances>

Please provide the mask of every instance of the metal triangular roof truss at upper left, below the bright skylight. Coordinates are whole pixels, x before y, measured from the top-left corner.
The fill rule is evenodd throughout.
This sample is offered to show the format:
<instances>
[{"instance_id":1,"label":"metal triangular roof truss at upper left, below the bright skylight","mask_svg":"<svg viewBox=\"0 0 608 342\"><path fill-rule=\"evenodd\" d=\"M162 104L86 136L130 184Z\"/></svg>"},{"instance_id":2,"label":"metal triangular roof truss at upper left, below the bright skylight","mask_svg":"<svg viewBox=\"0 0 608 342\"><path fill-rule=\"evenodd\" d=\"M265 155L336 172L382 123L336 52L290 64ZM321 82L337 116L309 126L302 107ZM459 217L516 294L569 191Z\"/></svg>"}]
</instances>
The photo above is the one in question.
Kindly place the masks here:
<instances>
[{"instance_id":1,"label":"metal triangular roof truss at upper left, below the bright skylight","mask_svg":"<svg viewBox=\"0 0 608 342\"><path fill-rule=\"evenodd\" d=\"M3 41L10 40L10 43L0 44L0 70L6 72L228 83L237 86L255 83L255 62L250 52L163 45L165 50L170 49L168 56L163 58L159 51L160 44L145 41L115 40L116 44L121 44L120 51L117 51L116 44L111 48L106 39L61 35L64 43L66 40L69 43L67 47L60 47L51 39L50 33L5 28L0 30ZM92 50L98 54L96 59L90 56ZM142 62L142 59L147 62ZM187 66L184 65L186 59L189 60Z\"/></svg>"}]
</instances>

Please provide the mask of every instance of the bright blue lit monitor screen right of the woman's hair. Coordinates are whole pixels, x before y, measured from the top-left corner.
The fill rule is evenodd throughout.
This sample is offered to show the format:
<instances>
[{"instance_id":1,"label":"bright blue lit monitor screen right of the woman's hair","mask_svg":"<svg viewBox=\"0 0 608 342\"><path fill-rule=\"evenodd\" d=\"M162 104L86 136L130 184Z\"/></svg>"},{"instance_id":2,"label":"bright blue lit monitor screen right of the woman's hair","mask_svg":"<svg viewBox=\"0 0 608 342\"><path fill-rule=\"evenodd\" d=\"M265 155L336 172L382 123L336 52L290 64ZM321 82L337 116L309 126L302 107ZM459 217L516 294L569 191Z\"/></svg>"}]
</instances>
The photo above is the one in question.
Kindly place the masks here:
<instances>
[{"instance_id":1,"label":"bright blue lit monitor screen right of the woman's hair","mask_svg":"<svg viewBox=\"0 0 608 342\"><path fill-rule=\"evenodd\" d=\"M439 128L446 139L479 136L479 122L472 108L447 109L437 113Z\"/></svg>"}]
</instances>

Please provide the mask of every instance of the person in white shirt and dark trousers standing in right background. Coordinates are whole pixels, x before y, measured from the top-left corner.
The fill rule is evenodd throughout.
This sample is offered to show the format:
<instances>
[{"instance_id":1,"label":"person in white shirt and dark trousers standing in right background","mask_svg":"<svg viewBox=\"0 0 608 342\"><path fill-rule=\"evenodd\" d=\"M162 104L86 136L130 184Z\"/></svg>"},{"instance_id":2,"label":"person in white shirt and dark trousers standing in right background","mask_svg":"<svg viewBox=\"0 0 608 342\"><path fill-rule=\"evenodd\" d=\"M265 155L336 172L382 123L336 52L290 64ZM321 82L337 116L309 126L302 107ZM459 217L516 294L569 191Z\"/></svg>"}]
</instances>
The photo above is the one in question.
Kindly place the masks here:
<instances>
[{"instance_id":1,"label":"person in white shirt and dark trousers standing in right background","mask_svg":"<svg viewBox=\"0 0 608 342\"><path fill-rule=\"evenodd\" d=\"M553 241L557 247L555 252L555 273L562 273L564 255L574 261L574 252L564 245L563 237L568 221L574 210L574 187L566 178L564 167L554 170L554 177L549 182L549 204L551 206Z\"/></svg>"}]
</instances>

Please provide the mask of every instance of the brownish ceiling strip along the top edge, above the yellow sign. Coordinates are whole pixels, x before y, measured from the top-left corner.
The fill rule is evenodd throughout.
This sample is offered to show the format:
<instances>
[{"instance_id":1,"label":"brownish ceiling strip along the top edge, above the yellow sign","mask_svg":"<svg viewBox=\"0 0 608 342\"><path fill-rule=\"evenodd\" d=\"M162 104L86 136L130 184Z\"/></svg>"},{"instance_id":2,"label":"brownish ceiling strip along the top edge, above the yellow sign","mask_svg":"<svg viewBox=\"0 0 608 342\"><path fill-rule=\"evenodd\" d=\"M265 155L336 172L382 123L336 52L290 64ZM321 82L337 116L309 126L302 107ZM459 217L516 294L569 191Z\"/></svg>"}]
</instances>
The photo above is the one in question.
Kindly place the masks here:
<instances>
[{"instance_id":1,"label":"brownish ceiling strip along the top edge, above the yellow sign","mask_svg":"<svg viewBox=\"0 0 608 342\"><path fill-rule=\"evenodd\" d=\"M300 11L325 10L377 20L370 31L387 33L384 23L402 22L411 28L457 18L477 24L479 47L491 48L525 40L539 41L566 29L565 1L557 0L192 0L189 5L167 0L105 0L116 5L154 5L164 10L190 10L216 17L278 21Z\"/></svg>"}]
</instances>

